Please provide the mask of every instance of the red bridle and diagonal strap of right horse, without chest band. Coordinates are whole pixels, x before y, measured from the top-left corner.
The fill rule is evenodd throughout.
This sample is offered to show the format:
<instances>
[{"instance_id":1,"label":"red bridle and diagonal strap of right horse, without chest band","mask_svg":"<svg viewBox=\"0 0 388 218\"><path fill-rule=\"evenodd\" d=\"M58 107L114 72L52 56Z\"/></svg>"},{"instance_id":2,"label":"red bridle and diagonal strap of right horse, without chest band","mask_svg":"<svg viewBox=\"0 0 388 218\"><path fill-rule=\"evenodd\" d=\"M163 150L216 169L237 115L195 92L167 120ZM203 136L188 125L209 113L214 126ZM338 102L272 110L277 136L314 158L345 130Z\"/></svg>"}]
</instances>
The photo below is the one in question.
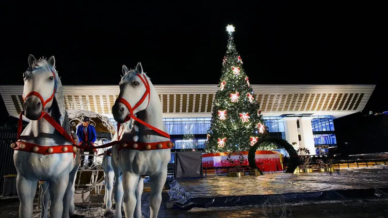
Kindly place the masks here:
<instances>
[{"instance_id":1,"label":"red bridle and diagonal strap of right horse, without chest band","mask_svg":"<svg viewBox=\"0 0 388 218\"><path fill-rule=\"evenodd\" d=\"M133 108L130 106L129 102L127 100L125 100L124 98L122 98L122 97L117 98L117 101L123 103L127 107L127 109L129 110L129 114L125 118L124 123L128 122L130 119L133 119L133 120L147 126L148 128L154 130L155 132L159 133L160 135L164 136L165 138L170 139L170 135L168 133L166 133L166 132L164 132L164 131L162 131L162 130L160 130L152 125L149 125L146 122L140 120L139 118L133 116L134 115L133 111L135 109L137 109L146 100L146 97L148 96L147 107L149 105L149 99L150 99L149 83L148 83L148 80L146 78L146 75L143 75L144 78L142 76L140 76L139 74L136 74L136 76L138 76L142 80L144 86L146 87L146 92L143 94L143 97L136 103L136 105ZM120 129L120 123L117 123L117 129Z\"/></svg>"}]
</instances>

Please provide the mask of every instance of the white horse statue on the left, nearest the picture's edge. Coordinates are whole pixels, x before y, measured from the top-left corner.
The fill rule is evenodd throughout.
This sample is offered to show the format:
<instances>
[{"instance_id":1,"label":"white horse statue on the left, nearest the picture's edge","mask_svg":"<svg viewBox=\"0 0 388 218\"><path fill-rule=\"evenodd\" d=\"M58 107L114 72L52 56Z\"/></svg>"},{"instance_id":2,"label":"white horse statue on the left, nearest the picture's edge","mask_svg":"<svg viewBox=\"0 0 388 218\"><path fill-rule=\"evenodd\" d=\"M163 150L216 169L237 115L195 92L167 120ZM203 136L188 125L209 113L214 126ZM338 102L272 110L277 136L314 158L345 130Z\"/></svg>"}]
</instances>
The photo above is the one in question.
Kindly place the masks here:
<instances>
[{"instance_id":1,"label":"white horse statue on the left, nearest the picture's edge","mask_svg":"<svg viewBox=\"0 0 388 218\"><path fill-rule=\"evenodd\" d=\"M28 58L24 79L24 115L30 123L21 133L22 113L14 148L19 218L32 217L32 202L38 181L43 188L42 218L69 218L75 214L74 180L80 165L78 140L70 130L61 79L55 59ZM43 118L43 119L42 119ZM76 139L76 141L73 140ZM48 190L48 191L47 191Z\"/></svg>"}]
</instances>

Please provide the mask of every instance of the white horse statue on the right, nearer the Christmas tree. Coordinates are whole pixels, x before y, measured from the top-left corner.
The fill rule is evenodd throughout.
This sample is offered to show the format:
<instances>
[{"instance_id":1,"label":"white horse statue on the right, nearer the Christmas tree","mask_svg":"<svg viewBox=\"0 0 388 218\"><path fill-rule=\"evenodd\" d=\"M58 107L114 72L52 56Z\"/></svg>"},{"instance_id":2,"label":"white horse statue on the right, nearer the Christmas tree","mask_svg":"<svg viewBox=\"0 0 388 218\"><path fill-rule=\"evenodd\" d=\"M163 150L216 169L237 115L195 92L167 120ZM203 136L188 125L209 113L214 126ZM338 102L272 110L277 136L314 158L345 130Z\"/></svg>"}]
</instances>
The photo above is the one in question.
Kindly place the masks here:
<instances>
[{"instance_id":1,"label":"white horse statue on the right, nearer the Christmas tree","mask_svg":"<svg viewBox=\"0 0 388 218\"><path fill-rule=\"evenodd\" d=\"M150 218L157 218L167 178L167 164L171 159L170 149L174 144L163 124L159 95L143 72L141 63L134 70L123 65L123 73L119 83L120 94L112 108L113 118L118 125L133 119L133 128L137 131L124 128L120 133L120 143L112 148L114 164L122 172L122 175L116 175L119 178L116 184L121 183L122 176L125 216L140 218L142 175L148 175L151 186ZM119 218L117 213L115 217Z\"/></svg>"}]
</instances>

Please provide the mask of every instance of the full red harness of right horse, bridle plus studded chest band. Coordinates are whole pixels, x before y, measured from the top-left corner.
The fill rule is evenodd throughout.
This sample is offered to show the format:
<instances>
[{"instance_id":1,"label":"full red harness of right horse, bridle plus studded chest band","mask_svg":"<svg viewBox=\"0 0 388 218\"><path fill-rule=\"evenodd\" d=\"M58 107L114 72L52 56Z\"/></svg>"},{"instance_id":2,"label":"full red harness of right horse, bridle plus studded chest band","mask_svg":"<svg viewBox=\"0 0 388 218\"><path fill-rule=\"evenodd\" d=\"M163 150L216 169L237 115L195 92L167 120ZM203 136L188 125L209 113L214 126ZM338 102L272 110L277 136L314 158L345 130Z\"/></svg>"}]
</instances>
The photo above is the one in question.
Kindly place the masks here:
<instances>
[{"instance_id":1,"label":"full red harness of right horse, bridle plus studded chest band","mask_svg":"<svg viewBox=\"0 0 388 218\"><path fill-rule=\"evenodd\" d=\"M129 102L127 100L125 100L124 98L122 97L118 97L117 100L121 103L123 103L127 109L129 110L129 114L128 116L126 117L126 119L124 120L124 123L125 122L128 122L130 119L133 119L137 122L139 122L140 124L143 124L145 126L147 126L148 128L154 130L155 132L159 133L160 135L162 135L163 137L167 138L167 139L170 139L170 135L152 125L149 125L147 124L146 122L140 120L139 118L133 116L134 113L133 111L135 109L137 109L145 100L146 100L146 97L148 96L148 102L147 102L147 107L149 105L149 99L150 99L150 89L149 89L149 83L148 83L148 80L146 78L145 75L140 76L139 74L136 74L136 76L138 76L143 84L146 86L146 92L143 94L143 97L136 103L136 105L132 108L129 104ZM119 131L120 129L120 123L117 124L117 131ZM120 138L118 137L117 140L120 140ZM127 142L127 141L122 141L122 143L119 145L119 148L118 150L122 150L122 149L132 149L132 150L159 150L159 149L168 149L168 148L172 148L174 146L174 144L171 142L171 141L160 141L160 142L152 142L152 143L147 143L147 142L134 142L134 141L130 141L130 142Z\"/></svg>"}]
</instances>

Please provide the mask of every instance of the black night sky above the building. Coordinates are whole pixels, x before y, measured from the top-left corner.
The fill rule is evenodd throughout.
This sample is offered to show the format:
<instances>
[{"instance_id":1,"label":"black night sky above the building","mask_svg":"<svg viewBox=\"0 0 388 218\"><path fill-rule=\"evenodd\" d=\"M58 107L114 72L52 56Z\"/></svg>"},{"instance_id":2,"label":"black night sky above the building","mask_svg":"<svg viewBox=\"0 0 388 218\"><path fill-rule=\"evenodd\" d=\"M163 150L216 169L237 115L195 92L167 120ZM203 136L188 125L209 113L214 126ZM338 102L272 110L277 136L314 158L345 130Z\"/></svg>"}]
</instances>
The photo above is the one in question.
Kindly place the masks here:
<instances>
[{"instance_id":1,"label":"black night sky above the building","mask_svg":"<svg viewBox=\"0 0 388 218\"><path fill-rule=\"evenodd\" d=\"M364 112L388 110L383 2L207 2L4 6L0 84L23 84L29 54L54 55L64 85L118 85L137 62L154 84L217 84L232 24L252 84L376 84Z\"/></svg>"}]
</instances>

